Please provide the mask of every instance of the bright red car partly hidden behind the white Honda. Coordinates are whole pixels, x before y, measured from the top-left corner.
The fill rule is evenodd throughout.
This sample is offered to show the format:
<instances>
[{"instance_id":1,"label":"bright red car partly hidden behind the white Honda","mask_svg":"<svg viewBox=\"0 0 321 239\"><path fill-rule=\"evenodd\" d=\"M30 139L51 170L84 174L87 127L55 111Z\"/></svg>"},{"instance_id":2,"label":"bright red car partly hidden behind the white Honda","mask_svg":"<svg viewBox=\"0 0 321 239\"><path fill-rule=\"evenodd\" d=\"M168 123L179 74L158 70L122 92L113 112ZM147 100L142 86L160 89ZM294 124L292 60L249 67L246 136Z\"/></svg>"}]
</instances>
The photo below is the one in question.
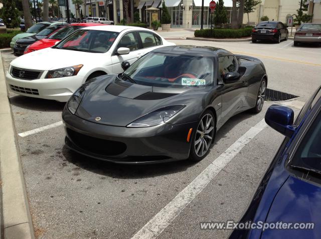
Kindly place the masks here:
<instances>
[{"instance_id":1,"label":"bright red car partly hidden behind the white Honda","mask_svg":"<svg viewBox=\"0 0 321 239\"><path fill-rule=\"evenodd\" d=\"M60 41L65 36L69 35L70 33L86 27L86 26L94 26L94 25L101 25L100 23L72 23L70 25L67 25L65 27L60 28L59 30L56 30L46 38L43 38L41 40L36 41L35 43L29 45L26 49L24 54L30 53L35 50L44 49L47 47L51 47L55 45L56 42Z\"/></svg>"}]
</instances>

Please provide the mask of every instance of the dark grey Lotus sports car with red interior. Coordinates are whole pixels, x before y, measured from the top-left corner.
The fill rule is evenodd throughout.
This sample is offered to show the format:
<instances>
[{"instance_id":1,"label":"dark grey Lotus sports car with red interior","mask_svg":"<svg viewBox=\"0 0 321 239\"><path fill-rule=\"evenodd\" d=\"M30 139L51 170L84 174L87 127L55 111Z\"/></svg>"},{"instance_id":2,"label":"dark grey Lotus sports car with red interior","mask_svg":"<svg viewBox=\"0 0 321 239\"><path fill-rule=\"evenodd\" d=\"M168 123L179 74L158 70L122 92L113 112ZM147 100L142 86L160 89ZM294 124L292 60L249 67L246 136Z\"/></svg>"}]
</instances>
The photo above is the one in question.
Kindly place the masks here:
<instances>
[{"instance_id":1,"label":"dark grey Lotus sports car with red interior","mask_svg":"<svg viewBox=\"0 0 321 239\"><path fill-rule=\"evenodd\" d=\"M199 161L231 116L258 113L264 103L263 63L224 49L166 46L122 66L123 73L89 80L66 103L71 149L118 163Z\"/></svg>"}]
</instances>

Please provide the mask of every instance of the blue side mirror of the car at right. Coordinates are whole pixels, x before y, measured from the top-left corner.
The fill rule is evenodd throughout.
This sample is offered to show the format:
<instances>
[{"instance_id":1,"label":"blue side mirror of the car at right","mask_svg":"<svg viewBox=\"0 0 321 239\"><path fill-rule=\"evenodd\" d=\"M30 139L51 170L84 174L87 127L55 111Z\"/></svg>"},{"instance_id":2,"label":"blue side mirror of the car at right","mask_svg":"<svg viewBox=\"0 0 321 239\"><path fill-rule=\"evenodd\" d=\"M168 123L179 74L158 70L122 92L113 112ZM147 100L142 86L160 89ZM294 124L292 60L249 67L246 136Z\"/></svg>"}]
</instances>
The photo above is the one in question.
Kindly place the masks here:
<instances>
[{"instance_id":1,"label":"blue side mirror of the car at right","mask_svg":"<svg viewBox=\"0 0 321 239\"><path fill-rule=\"evenodd\" d=\"M294 112L286 106L273 104L265 113L265 122L287 137L291 137L295 131L293 120Z\"/></svg>"}]
</instances>

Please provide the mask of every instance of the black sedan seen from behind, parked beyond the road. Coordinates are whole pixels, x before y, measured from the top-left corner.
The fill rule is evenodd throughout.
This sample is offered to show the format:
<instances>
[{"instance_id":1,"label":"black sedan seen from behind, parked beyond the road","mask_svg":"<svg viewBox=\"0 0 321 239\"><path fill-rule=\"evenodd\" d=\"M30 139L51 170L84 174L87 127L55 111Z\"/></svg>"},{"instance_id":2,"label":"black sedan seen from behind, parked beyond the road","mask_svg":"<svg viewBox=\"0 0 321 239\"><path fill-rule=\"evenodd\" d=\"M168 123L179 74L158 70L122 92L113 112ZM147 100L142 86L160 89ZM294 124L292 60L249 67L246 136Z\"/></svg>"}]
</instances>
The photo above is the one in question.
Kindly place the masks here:
<instances>
[{"instance_id":1,"label":"black sedan seen from behind, parked beyond the road","mask_svg":"<svg viewBox=\"0 0 321 239\"><path fill-rule=\"evenodd\" d=\"M281 21L261 21L252 30L252 42L270 40L280 43L287 40L289 31Z\"/></svg>"}]
</instances>

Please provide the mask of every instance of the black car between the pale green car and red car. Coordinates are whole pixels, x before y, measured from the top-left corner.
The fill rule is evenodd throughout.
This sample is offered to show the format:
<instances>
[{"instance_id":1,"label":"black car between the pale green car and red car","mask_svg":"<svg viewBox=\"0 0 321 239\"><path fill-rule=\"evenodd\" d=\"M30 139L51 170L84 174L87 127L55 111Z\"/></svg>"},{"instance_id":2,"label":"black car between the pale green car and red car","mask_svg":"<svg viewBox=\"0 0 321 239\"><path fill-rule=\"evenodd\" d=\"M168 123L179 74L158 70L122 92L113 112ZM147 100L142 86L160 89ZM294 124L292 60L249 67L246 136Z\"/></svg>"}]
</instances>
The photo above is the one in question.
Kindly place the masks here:
<instances>
[{"instance_id":1,"label":"black car between the pale green car and red car","mask_svg":"<svg viewBox=\"0 0 321 239\"><path fill-rule=\"evenodd\" d=\"M32 43L35 43L37 40L46 38L48 35L56 31L57 29L68 25L66 22L58 22L57 24L52 24L45 29L39 31L35 35L27 36L21 39L18 39L14 46L14 55L22 55L24 54L24 51L28 45L31 45Z\"/></svg>"}]
</instances>

